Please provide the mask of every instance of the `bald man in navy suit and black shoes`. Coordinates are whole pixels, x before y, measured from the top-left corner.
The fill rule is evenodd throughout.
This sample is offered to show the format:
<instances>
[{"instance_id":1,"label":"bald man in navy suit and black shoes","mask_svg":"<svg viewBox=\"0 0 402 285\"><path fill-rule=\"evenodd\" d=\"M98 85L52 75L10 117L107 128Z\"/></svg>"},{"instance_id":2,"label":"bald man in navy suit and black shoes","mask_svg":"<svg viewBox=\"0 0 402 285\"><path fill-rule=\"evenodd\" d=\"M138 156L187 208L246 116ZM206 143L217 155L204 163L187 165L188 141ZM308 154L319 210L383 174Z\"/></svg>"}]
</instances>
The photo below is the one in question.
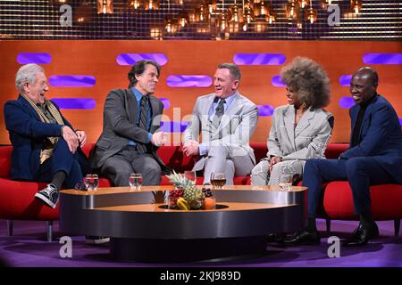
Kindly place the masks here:
<instances>
[{"instance_id":1,"label":"bald man in navy suit and black shoes","mask_svg":"<svg viewBox=\"0 0 402 285\"><path fill-rule=\"evenodd\" d=\"M344 246L363 246L379 235L371 211L370 185L402 183L402 133L396 111L377 94L378 74L364 67L356 71L350 93L356 102L350 110L350 148L339 159L310 159L303 184L308 187L307 226L285 240L285 244L317 244L320 235L315 216L322 195L322 183L348 180L355 213L360 224Z\"/></svg>"}]
</instances>

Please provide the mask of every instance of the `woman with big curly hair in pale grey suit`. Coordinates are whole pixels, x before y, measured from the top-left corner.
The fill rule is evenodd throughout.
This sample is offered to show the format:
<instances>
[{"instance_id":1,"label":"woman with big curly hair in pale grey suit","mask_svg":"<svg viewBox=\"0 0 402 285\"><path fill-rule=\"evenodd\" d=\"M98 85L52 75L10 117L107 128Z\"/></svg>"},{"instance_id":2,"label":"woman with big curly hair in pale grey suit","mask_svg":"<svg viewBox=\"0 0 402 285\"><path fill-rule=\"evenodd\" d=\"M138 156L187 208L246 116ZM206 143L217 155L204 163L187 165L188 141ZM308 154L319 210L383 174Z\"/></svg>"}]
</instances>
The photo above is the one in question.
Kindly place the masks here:
<instances>
[{"instance_id":1,"label":"woman with big curly hair in pale grey suit","mask_svg":"<svg viewBox=\"0 0 402 285\"><path fill-rule=\"evenodd\" d=\"M279 184L281 175L301 177L307 159L322 159L334 118L324 107L330 103L330 79L310 59L297 57L281 70L288 105L276 108L268 137L267 158L251 173L253 185Z\"/></svg>"}]
</instances>

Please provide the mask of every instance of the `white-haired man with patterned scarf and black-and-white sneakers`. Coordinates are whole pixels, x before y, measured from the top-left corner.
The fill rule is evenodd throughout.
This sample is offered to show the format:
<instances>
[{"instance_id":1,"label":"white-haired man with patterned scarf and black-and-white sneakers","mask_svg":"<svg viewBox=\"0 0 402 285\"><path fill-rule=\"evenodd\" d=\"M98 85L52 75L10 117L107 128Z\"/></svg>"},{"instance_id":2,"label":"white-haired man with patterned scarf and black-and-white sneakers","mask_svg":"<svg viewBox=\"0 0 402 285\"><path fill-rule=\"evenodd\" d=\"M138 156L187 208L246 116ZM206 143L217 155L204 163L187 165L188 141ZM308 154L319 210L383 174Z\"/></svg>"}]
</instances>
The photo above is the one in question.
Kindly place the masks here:
<instances>
[{"instance_id":1,"label":"white-haired man with patterned scarf and black-and-white sneakers","mask_svg":"<svg viewBox=\"0 0 402 285\"><path fill-rule=\"evenodd\" d=\"M90 172L80 148L84 131L74 130L58 106L46 99L45 71L37 64L21 66L15 77L17 100L4 104L5 126L13 144L11 177L15 180L50 182L35 194L46 206L56 208L64 184L74 188Z\"/></svg>"}]
</instances>

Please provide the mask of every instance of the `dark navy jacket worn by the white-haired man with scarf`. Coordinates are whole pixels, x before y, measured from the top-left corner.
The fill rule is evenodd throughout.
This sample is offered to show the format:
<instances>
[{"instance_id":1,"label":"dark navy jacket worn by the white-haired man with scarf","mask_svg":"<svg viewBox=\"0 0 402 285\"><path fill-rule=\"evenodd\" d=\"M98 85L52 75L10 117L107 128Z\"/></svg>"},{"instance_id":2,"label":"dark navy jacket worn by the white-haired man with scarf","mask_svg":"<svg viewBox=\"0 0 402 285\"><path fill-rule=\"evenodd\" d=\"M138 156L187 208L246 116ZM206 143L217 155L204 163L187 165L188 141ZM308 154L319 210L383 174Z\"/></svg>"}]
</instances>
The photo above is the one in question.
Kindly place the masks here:
<instances>
[{"instance_id":1,"label":"dark navy jacket worn by the white-haired man with scarf","mask_svg":"<svg viewBox=\"0 0 402 285\"><path fill-rule=\"evenodd\" d=\"M55 103L54 106L59 110ZM63 115L62 118L64 124L72 129L71 124ZM60 136L62 126L43 123L36 110L21 95L17 100L5 102L4 120L13 144L11 178L37 180L40 151L44 139L48 136ZM80 148L77 154L85 159Z\"/></svg>"}]
</instances>

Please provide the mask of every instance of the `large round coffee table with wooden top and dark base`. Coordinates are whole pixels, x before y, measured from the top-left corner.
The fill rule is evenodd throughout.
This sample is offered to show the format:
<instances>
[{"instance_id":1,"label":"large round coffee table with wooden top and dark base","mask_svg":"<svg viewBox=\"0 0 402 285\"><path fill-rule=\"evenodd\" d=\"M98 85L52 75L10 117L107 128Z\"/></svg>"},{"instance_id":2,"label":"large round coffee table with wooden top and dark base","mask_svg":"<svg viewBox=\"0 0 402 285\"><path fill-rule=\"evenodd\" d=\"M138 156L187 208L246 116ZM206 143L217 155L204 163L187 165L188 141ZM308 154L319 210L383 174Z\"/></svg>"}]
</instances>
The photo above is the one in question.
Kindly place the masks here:
<instances>
[{"instance_id":1,"label":"large round coffee table with wooden top and dark base","mask_svg":"<svg viewBox=\"0 0 402 285\"><path fill-rule=\"evenodd\" d=\"M60 229L111 237L120 260L190 261L264 253L268 233L297 231L306 215L306 187L225 186L214 190L222 208L190 211L163 208L172 189L61 191Z\"/></svg>"}]
</instances>

